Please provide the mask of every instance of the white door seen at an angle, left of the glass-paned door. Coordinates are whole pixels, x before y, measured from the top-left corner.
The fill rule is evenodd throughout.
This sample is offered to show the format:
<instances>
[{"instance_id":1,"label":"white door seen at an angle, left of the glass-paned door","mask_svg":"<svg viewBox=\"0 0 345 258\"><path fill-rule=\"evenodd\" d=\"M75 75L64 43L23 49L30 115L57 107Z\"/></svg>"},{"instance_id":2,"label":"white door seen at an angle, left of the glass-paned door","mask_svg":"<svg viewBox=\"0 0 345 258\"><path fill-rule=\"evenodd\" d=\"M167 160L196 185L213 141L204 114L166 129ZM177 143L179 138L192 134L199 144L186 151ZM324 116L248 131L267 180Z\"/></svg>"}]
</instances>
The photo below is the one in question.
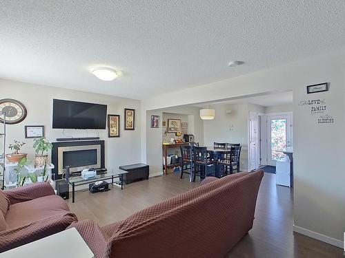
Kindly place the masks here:
<instances>
[{"instance_id":1,"label":"white door seen at an angle, left of the glass-paned door","mask_svg":"<svg viewBox=\"0 0 345 258\"><path fill-rule=\"evenodd\" d=\"M257 147L258 144L258 117L256 112L250 111L249 113L249 158L248 158L248 167L249 171L257 169L259 166L259 152Z\"/></svg>"}]
</instances>

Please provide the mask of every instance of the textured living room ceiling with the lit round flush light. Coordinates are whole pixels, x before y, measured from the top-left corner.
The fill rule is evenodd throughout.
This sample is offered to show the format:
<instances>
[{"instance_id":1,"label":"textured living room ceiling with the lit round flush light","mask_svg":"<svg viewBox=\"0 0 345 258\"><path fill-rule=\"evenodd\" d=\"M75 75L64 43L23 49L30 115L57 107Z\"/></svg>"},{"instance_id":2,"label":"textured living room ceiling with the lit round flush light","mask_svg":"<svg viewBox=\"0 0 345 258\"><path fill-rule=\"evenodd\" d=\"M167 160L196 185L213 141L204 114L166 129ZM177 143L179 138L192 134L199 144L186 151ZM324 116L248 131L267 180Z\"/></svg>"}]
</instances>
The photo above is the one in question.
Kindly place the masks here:
<instances>
[{"instance_id":1,"label":"textured living room ceiling with the lit round flush light","mask_svg":"<svg viewBox=\"0 0 345 258\"><path fill-rule=\"evenodd\" d=\"M0 78L142 99L341 48L344 28L344 0L0 0Z\"/></svg>"}]
</instances>

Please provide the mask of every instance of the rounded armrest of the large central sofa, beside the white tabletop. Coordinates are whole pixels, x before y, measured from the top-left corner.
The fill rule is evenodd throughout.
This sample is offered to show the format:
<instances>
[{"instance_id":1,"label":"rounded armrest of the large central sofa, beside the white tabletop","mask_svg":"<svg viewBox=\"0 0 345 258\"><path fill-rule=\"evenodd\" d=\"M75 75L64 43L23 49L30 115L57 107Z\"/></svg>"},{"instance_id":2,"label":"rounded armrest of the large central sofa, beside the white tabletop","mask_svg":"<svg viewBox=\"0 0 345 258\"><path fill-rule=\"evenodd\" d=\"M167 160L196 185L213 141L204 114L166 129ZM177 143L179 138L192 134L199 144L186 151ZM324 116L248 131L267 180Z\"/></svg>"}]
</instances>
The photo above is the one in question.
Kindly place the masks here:
<instances>
[{"instance_id":1,"label":"rounded armrest of the large central sofa, beside the white tabletop","mask_svg":"<svg viewBox=\"0 0 345 258\"><path fill-rule=\"evenodd\" d=\"M95 257L110 257L110 237L96 222L86 219L74 222L68 228L76 228Z\"/></svg>"}]
</instances>

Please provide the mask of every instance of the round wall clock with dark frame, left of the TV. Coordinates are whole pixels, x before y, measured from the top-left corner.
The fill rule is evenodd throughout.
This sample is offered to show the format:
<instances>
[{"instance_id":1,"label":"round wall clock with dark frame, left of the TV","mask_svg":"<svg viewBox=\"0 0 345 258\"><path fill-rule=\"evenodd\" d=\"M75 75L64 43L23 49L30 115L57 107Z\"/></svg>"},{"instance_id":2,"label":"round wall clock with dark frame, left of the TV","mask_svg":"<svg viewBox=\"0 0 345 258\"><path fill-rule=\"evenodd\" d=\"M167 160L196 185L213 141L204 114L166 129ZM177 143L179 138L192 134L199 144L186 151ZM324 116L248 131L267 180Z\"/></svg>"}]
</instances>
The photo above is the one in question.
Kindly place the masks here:
<instances>
[{"instance_id":1,"label":"round wall clock with dark frame, left of the TV","mask_svg":"<svg viewBox=\"0 0 345 258\"><path fill-rule=\"evenodd\" d=\"M3 98L0 100L0 111L5 112L6 124L14 125L26 118L26 107L18 100ZM0 122L3 122L0 118Z\"/></svg>"}]
</instances>

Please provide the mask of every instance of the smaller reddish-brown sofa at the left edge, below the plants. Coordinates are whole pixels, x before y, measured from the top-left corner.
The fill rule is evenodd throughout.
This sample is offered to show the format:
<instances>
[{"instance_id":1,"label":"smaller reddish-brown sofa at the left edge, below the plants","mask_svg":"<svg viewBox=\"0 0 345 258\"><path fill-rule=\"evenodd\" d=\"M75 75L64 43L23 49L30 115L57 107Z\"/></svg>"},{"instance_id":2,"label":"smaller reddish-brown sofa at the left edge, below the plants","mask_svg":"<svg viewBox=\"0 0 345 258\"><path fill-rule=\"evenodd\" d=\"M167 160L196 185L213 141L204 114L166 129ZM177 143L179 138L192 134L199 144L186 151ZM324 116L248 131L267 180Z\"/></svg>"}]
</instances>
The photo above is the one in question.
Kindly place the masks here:
<instances>
[{"instance_id":1,"label":"smaller reddish-brown sofa at the left edge, below the plants","mask_svg":"<svg viewBox=\"0 0 345 258\"><path fill-rule=\"evenodd\" d=\"M0 252L65 230L77 217L47 182L0 190Z\"/></svg>"}]
</instances>

